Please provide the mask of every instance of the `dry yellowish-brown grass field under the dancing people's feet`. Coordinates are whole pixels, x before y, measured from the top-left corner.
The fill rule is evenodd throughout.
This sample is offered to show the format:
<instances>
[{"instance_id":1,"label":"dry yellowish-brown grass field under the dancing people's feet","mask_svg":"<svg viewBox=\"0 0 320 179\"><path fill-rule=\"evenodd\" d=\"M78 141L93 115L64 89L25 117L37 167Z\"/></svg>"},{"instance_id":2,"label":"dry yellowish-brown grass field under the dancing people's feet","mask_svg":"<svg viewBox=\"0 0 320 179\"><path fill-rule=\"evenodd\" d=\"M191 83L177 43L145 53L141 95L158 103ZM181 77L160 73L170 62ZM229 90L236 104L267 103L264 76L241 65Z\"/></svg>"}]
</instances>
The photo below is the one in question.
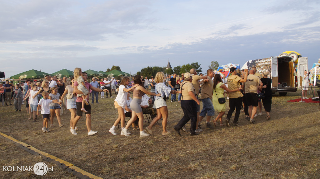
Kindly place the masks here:
<instances>
[{"instance_id":1,"label":"dry yellowish-brown grass field under the dancing people's feet","mask_svg":"<svg viewBox=\"0 0 320 179\"><path fill-rule=\"evenodd\" d=\"M76 136L69 130L70 112L62 115L65 126L57 127L55 118L56 127L44 133L41 120L33 123L27 120L24 107L15 112L13 106L0 108L0 132L102 178L320 178L320 106L287 102L300 94L300 90L285 97L275 94L269 121L263 112L251 125L241 112L240 126L203 127L204 132L198 136L187 132L182 132L181 137L175 132L162 136L161 126L153 127L154 135L149 137L139 137L132 127L130 137L120 136L118 128L118 135L113 136L108 130L118 114L113 105L115 98L110 97L99 98L100 104L92 105L92 130L98 131L93 136L87 136L84 116L77 125ZM227 100L227 111L228 103ZM167 128L174 131L172 127L183 112L179 103L167 104ZM0 148L2 166L33 166L36 162L54 166L2 139ZM1 170L0 178L75 176L54 166L54 171L44 177L33 172Z\"/></svg>"}]
</instances>

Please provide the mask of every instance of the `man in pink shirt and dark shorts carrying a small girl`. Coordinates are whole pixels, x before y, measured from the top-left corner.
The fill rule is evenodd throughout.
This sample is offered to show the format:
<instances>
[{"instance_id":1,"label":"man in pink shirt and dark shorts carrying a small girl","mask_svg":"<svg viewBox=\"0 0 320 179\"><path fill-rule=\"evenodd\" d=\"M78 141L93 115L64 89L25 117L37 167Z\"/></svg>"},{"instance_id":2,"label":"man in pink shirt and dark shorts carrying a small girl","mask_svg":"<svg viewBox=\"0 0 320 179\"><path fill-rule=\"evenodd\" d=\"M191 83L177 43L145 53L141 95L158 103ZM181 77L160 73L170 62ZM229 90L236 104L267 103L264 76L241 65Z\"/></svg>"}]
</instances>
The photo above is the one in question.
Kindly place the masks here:
<instances>
[{"instance_id":1,"label":"man in pink shirt and dark shorts carrying a small girl","mask_svg":"<svg viewBox=\"0 0 320 179\"><path fill-rule=\"evenodd\" d=\"M88 74L85 73L85 72L82 72L82 77L83 77L84 81L86 81L87 78L88 78ZM85 86L88 89L91 89L93 91L98 91L98 92L108 91L108 89L103 89L102 90L102 89L99 89L99 88L95 88L88 82L85 82ZM78 90L78 82L77 81L75 81L75 83L74 83L73 90L77 94L83 94L81 91ZM77 108L76 113L77 113L77 116L72 120L72 128L70 129L70 131L71 131L71 133L73 135L78 135L76 133L76 124L78 123L79 119L82 116L82 111L81 111L82 100L83 100L82 97L77 97L77 99L76 99L76 108ZM93 134L98 133L97 131L92 131L91 130L91 105L90 104L89 105L84 104L84 109L87 111L85 113L85 116L86 116L86 125L87 125L87 129L88 129L88 135L93 135Z\"/></svg>"}]
</instances>

